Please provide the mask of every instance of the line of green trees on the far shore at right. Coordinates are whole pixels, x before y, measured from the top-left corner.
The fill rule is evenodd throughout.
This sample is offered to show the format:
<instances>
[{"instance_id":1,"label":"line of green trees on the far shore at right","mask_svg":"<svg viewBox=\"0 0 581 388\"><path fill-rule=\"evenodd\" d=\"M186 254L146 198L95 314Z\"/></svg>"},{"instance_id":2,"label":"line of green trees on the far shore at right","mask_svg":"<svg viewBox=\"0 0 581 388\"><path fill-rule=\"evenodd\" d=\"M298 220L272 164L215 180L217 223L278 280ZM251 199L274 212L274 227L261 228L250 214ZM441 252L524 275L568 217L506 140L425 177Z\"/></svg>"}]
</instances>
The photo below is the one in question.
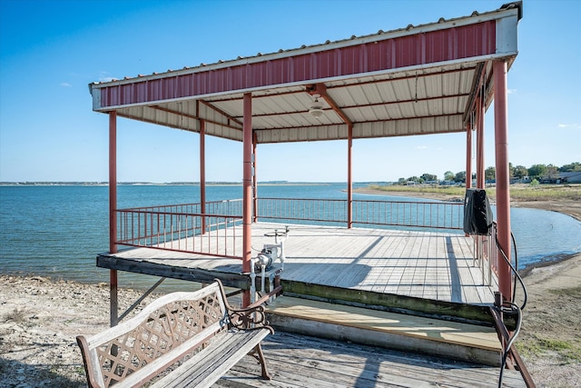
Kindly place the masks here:
<instances>
[{"instance_id":1,"label":"line of green trees on the far shore at right","mask_svg":"<svg viewBox=\"0 0 581 388\"><path fill-rule=\"evenodd\" d=\"M525 179L533 181L535 179L540 180L543 178L556 179L559 177L559 173L575 173L581 172L581 163L573 162L570 164L564 164L557 167L554 164L533 164L530 167L525 167L524 165L512 165L508 164L508 172L510 178L514 179ZM494 181L497 178L497 170L495 167L490 166L484 171L484 179L486 181ZM476 179L476 173L472 174L472 179ZM452 173L447 171L444 173L445 182L466 182L466 171L460 171L459 173ZM420 176L410 176L408 179L399 178L399 184L406 184L408 182L413 182L416 184L429 184L438 183L438 175L436 174L421 174Z\"/></svg>"}]
</instances>

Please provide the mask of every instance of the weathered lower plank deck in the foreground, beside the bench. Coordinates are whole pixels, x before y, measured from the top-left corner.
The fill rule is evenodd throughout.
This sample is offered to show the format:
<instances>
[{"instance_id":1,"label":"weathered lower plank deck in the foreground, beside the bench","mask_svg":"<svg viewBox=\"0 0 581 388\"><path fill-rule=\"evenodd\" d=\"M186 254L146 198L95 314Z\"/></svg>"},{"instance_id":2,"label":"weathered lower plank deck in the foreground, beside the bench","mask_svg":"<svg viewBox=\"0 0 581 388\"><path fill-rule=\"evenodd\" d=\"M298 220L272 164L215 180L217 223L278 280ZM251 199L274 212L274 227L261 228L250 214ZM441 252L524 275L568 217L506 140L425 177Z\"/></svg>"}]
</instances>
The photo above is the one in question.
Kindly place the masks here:
<instances>
[{"instance_id":1,"label":"weathered lower plank deck in the foreground, beside the bench","mask_svg":"<svg viewBox=\"0 0 581 388\"><path fill-rule=\"evenodd\" d=\"M218 387L409 387L496 386L498 368L390 351L291 333L269 335L262 344L272 380L257 377L260 365L245 357L213 385ZM525 387L516 371L503 386Z\"/></svg>"}]
</instances>

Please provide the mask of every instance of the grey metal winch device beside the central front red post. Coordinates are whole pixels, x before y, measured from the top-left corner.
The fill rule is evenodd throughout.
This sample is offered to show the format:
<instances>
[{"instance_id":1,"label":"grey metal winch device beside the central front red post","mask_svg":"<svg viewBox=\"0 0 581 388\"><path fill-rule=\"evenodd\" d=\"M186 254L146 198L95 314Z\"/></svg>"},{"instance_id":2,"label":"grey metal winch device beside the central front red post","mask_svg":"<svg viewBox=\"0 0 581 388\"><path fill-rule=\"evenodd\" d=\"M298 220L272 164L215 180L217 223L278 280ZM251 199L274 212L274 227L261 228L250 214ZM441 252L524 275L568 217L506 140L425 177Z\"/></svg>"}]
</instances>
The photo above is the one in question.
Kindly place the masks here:
<instances>
[{"instance_id":1,"label":"grey metal winch device beside the central front red post","mask_svg":"<svg viewBox=\"0 0 581 388\"><path fill-rule=\"evenodd\" d=\"M277 271L280 274L284 270L284 242L289 236L289 226L285 226L284 231L275 229L273 232L265 233L265 237L274 237L274 244L262 245L262 250L256 257L251 258L251 302L254 302L256 294L256 272L261 271L261 293L265 290L266 271L271 269L276 260L281 262L281 268ZM279 237L282 237L279 239ZM274 274L271 274L271 283Z\"/></svg>"}]
</instances>

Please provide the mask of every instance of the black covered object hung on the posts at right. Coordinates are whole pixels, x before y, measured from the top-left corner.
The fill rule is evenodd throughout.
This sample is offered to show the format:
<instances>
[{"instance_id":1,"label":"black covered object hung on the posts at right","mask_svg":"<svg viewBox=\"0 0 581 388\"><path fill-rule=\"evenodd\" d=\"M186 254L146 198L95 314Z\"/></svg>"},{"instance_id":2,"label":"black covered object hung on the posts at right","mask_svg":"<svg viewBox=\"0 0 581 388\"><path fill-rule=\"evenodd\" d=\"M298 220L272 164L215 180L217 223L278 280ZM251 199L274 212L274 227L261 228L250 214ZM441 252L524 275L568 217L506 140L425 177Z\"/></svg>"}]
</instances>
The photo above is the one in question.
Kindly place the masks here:
<instances>
[{"instance_id":1,"label":"black covered object hung on the posts at right","mask_svg":"<svg viewBox=\"0 0 581 388\"><path fill-rule=\"evenodd\" d=\"M490 235L494 215L484 189L467 189L464 197L464 233Z\"/></svg>"}]
</instances>

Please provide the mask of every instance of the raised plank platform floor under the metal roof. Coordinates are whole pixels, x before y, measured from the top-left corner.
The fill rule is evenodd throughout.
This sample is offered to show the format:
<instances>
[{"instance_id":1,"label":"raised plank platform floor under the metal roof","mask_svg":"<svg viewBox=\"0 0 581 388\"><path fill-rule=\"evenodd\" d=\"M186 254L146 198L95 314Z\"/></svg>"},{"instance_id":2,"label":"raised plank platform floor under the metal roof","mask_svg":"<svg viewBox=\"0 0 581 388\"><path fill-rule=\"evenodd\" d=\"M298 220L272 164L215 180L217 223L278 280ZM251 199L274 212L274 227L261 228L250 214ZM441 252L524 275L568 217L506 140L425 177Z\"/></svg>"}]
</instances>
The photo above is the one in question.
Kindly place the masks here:
<instances>
[{"instance_id":1,"label":"raised plank platform floor under the metal roof","mask_svg":"<svg viewBox=\"0 0 581 388\"><path fill-rule=\"evenodd\" d=\"M252 256L263 244L274 243L264 234L284 226L252 224ZM451 303L494 302L491 290L497 280L493 276L487 284L474 261L473 240L463 234L301 224L290 228L283 281ZM280 265L275 263L270 273ZM248 283L239 260L151 248L100 254L97 266L201 283L218 277L238 288Z\"/></svg>"}]
</instances>

